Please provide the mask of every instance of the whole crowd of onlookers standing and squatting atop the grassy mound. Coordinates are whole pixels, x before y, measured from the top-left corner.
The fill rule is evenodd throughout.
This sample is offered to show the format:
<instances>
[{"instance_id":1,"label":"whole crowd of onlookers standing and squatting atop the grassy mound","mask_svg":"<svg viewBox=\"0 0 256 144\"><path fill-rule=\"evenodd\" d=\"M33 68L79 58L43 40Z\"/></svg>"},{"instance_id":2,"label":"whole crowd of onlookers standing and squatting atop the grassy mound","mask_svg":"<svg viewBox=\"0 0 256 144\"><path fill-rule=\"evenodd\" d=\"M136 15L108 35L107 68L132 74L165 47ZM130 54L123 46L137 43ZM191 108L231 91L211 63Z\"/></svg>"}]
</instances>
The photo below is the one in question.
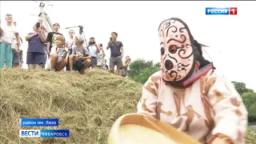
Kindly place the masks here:
<instances>
[{"instance_id":1,"label":"whole crowd of onlookers standing and squatting atop the grassy mound","mask_svg":"<svg viewBox=\"0 0 256 144\"><path fill-rule=\"evenodd\" d=\"M82 34L75 34L69 30L69 38L65 38L58 30L60 25L54 23L54 30L49 32L43 25L43 18L34 22L32 32L25 37L28 42L26 50L26 64L28 69L46 69L51 71L68 70L83 74L86 69L99 67L109 70L122 77L127 76L130 56L122 61L124 49L122 42L118 41L118 33L112 32L106 50L110 49L110 63L106 63L106 54L102 43L95 41L94 37L86 46ZM3 68L22 68L23 40L13 21L12 14L6 14L6 26L0 27L0 70ZM114 68L117 68L115 71Z\"/></svg>"}]
</instances>

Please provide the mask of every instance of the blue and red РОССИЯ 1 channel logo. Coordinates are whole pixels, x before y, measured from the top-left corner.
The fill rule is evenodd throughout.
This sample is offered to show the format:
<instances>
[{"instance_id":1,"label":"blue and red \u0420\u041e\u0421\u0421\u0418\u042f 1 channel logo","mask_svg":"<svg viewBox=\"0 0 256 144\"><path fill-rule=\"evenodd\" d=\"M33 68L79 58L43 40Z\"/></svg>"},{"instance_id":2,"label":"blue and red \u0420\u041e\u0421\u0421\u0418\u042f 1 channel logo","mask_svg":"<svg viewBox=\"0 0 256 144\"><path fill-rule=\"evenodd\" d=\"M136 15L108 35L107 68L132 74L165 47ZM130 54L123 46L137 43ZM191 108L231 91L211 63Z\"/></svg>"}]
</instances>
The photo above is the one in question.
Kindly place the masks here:
<instances>
[{"instance_id":1,"label":"blue and red \u0420\u041e\u0421\u0421\u0418\u042f 1 channel logo","mask_svg":"<svg viewBox=\"0 0 256 144\"><path fill-rule=\"evenodd\" d=\"M237 15L238 8L237 7L206 7L206 15Z\"/></svg>"}]
</instances>

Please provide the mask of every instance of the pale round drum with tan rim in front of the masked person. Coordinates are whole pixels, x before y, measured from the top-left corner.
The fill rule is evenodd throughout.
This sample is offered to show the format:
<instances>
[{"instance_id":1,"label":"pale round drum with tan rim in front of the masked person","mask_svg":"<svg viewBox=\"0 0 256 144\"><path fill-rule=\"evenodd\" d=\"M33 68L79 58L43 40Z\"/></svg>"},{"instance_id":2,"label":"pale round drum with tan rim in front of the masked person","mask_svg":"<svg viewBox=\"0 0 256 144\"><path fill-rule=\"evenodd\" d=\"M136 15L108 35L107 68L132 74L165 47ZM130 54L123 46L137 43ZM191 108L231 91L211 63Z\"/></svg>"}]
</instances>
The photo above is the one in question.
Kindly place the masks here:
<instances>
[{"instance_id":1,"label":"pale round drum with tan rim in front of the masked person","mask_svg":"<svg viewBox=\"0 0 256 144\"><path fill-rule=\"evenodd\" d=\"M188 134L142 114L122 115L112 126L108 144L200 144Z\"/></svg>"}]
</instances>

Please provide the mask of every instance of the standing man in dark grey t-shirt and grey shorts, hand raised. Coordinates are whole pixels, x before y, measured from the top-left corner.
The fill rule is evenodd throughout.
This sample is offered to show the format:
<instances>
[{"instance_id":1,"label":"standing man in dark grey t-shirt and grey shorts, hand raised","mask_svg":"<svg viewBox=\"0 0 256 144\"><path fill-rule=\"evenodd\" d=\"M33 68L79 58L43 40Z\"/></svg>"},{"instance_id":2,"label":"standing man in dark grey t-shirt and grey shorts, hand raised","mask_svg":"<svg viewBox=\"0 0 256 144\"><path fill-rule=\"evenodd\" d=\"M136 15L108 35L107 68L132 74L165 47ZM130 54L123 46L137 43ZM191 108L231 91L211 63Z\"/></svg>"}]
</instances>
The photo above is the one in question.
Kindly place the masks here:
<instances>
[{"instance_id":1,"label":"standing man in dark grey t-shirt and grey shorts, hand raised","mask_svg":"<svg viewBox=\"0 0 256 144\"><path fill-rule=\"evenodd\" d=\"M122 56L124 53L122 42L117 40L118 33L112 32L110 42L106 46L106 50L110 49L110 73L114 74L114 66L117 66L118 75L122 76Z\"/></svg>"}]
</instances>

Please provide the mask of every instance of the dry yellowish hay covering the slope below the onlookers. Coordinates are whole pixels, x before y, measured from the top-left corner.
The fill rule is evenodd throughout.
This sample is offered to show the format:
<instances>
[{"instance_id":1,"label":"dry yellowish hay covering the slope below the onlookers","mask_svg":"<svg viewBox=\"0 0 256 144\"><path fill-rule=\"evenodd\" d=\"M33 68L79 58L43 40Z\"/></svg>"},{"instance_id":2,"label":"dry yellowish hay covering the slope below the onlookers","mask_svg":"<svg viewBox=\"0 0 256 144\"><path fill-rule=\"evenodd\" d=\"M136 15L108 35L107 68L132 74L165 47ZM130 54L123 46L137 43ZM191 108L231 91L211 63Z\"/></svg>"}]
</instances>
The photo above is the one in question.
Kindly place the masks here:
<instances>
[{"instance_id":1,"label":"dry yellowish hay covering the slope below the onlookers","mask_svg":"<svg viewBox=\"0 0 256 144\"><path fill-rule=\"evenodd\" d=\"M104 144L122 114L134 113L142 85L102 70L86 74L0 70L0 143ZM58 118L57 127L20 127L19 118ZM70 138L19 138L20 129L68 129ZM246 143L256 143L249 132Z\"/></svg>"}]
</instances>

